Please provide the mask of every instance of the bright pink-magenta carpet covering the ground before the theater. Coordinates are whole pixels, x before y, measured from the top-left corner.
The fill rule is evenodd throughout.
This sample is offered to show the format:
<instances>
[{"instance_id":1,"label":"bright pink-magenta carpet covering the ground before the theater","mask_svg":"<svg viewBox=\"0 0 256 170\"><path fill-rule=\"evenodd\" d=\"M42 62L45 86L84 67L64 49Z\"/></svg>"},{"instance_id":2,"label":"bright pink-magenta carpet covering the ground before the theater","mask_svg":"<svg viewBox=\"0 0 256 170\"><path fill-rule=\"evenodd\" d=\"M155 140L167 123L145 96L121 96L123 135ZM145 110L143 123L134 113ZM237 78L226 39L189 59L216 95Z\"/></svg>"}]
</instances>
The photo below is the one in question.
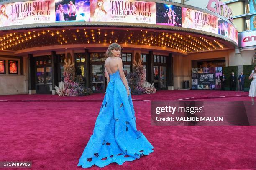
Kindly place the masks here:
<instances>
[{"instance_id":1,"label":"bright pink-magenta carpet covering the ground before the theater","mask_svg":"<svg viewBox=\"0 0 256 170\"><path fill-rule=\"evenodd\" d=\"M7 100L0 102L0 161L32 161L32 168L24 169L33 170L82 169L77 163L92 135L101 106L100 101L92 100L102 100L103 95L0 96L0 100ZM250 97L237 95L248 95L248 92L225 91L223 95L220 91L174 90L132 97L177 100L226 96L202 100L250 100ZM73 99L75 101L71 101ZM91 169L256 169L256 126L151 126L150 101L134 101L133 104L137 128L155 147L154 152L123 165L111 163L104 168L93 166Z\"/></svg>"}]
</instances>

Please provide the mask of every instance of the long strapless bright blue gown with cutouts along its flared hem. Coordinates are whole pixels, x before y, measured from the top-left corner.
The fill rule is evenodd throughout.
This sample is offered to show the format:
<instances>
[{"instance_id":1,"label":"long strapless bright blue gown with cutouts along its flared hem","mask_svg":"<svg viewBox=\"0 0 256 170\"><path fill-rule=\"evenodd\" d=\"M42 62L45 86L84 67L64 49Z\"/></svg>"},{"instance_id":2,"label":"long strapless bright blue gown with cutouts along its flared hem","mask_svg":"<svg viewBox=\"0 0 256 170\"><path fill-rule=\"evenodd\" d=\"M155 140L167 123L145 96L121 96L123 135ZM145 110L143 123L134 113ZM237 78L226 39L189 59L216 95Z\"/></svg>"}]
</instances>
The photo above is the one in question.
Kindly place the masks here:
<instances>
[{"instance_id":1,"label":"long strapless bright blue gown with cutouts along its flared hem","mask_svg":"<svg viewBox=\"0 0 256 170\"><path fill-rule=\"evenodd\" d=\"M109 76L93 134L77 165L82 168L104 167L113 162L122 165L154 151L151 143L136 128L132 98L127 96L119 71Z\"/></svg>"}]
</instances>

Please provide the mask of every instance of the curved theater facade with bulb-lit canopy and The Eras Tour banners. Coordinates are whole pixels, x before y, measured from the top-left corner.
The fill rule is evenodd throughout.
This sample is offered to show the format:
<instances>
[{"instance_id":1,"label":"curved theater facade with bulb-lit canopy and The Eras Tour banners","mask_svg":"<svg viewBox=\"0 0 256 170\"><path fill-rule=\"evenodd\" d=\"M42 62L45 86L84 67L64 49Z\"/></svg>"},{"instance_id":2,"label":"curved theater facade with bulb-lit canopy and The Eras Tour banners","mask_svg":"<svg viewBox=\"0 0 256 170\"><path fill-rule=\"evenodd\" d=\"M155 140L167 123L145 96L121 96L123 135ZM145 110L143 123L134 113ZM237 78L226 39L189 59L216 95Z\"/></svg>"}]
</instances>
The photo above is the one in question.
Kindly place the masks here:
<instances>
[{"instance_id":1,"label":"curved theater facade with bulb-lit canopy and The Eras Tour banners","mask_svg":"<svg viewBox=\"0 0 256 170\"><path fill-rule=\"evenodd\" d=\"M104 92L104 53L113 42L122 47L125 74L141 59L146 80L157 90L182 88L184 80L191 82L192 68L205 62L240 62L236 25L209 10L184 1L106 1L105 10L94 0L79 2L73 2L76 15L69 15L69 1L0 3L6 10L0 23L1 95L55 94L68 60L75 63L80 85ZM249 57L242 58L246 63Z\"/></svg>"}]
</instances>

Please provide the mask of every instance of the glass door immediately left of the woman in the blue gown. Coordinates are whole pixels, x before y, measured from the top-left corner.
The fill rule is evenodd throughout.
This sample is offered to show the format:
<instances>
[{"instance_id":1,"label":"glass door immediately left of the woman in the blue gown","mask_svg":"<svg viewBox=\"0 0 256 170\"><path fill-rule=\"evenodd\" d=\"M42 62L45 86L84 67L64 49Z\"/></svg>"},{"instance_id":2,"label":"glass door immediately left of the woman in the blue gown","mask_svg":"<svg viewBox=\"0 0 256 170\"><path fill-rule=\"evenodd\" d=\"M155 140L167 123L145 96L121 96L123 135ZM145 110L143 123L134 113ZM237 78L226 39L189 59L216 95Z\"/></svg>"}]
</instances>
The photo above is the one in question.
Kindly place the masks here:
<instances>
[{"instance_id":1,"label":"glass door immediately left of the woman in the blue gown","mask_svg":"<svg viewBox=\"0 0 256 170\"><path fill-rule=\"evenodd\" d=\"M92 65L92 91L104 92L105 91L105 74L104 65Z\"/></svg>"}]
</instances>

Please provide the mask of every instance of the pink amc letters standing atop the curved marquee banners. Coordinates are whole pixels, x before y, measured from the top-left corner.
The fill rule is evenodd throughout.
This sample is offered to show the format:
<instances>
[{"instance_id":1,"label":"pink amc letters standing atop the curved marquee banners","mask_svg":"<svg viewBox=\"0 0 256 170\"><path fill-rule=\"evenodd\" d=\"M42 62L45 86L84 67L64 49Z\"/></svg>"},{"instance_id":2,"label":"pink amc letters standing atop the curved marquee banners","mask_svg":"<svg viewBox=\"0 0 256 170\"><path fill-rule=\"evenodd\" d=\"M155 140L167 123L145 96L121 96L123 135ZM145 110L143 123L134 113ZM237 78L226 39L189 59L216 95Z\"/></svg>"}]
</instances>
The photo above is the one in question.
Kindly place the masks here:
<instances>
[{"instance_id":1,"label":"pink amc letters standing atop the curved marquee banners","mask_svg":"<svg viewBox=\"0 0 256 170\"><path fill-rule=\"evenodd\" d=\"M209 0L207 9L212 11L213 13L217 13L217 14L227 18L231 22L233 22L232 10L223 2L221 2L219 0ZM223 12L222 12L222 9L223 9Z\"/></svg>"}]
</instances>

